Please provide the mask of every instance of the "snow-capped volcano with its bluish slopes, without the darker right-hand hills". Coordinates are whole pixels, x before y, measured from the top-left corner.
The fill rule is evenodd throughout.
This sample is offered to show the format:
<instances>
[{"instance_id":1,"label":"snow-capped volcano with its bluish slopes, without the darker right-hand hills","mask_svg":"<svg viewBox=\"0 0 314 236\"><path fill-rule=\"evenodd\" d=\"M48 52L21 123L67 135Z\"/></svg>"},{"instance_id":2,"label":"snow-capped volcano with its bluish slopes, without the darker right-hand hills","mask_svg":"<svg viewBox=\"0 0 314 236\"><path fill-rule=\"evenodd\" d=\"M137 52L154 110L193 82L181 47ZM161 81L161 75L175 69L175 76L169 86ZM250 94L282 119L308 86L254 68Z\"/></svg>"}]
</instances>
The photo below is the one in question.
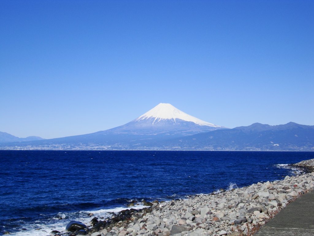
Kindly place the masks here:
<instances>
[{"instance_id":1,"label":"snow-capped volcano with its bluish slopes, without the darker right-hand hills","mask_svg":"<svg viewBox=\"0 0 314 236\"><path fill-rule=\"evenodd\" d=\"M226 129L188 115L171 104L160 103L125 125L90 134L24 143L24 146L66 146L138 149L152 143L201 132ZM60 147L61 148L61 147Z\"/></svg>"}]
</instances>

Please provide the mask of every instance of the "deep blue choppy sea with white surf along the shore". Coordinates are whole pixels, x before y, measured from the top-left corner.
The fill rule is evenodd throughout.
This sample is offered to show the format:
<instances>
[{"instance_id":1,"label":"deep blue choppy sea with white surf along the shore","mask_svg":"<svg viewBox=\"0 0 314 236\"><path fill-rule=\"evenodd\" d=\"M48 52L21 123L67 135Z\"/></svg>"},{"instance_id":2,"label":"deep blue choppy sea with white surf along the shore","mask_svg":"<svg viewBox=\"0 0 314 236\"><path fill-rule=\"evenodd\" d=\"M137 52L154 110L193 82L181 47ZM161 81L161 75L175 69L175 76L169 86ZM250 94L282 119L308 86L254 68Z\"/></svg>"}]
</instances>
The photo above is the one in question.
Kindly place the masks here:
<instances>
[{"instance_id":1,"label":"deep blue choppy sea with white surf along the shore","mask_svg":"<svg viewBox=\"0 0 314 236\"><path fill-rule=\"evenodd\" d=\"M44 236L132 200L280 180L293 174L284 164L313 158L314 152L0 150L0 235Z\"/></svg>"}]
</instances>

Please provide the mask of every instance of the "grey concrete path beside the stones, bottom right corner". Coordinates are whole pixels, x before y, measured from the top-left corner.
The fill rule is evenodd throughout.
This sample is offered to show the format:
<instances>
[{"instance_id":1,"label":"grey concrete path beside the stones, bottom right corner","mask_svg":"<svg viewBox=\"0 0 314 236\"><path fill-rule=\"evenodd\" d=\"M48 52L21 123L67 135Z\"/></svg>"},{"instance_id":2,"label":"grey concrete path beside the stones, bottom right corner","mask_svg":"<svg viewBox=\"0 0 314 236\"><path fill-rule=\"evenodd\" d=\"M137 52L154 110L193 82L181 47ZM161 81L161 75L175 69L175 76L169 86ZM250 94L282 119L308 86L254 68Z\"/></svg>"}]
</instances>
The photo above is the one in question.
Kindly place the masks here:
<instances>
[{"instance_id":1,"label":"grey concrete path beside the stones, bottom right corner","mask_svg":"<svg viewBox=\"0 0 314 236\"><path fill-rule=\"evenodd\" d=\"M302 195L264 224L254 236L313 236L314 191Z\"/></svg>"}]
</instances>

